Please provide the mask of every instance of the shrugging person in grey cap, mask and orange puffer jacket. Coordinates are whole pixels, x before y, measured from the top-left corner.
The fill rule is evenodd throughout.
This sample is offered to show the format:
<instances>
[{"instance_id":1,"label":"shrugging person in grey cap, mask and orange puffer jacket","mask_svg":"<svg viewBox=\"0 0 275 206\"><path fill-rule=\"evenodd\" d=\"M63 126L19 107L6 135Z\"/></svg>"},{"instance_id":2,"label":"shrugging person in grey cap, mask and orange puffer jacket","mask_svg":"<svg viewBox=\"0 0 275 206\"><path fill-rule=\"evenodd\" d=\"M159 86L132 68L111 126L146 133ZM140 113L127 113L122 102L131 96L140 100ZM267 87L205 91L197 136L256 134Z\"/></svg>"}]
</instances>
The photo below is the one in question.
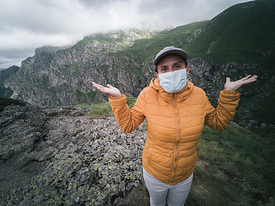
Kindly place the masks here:
<instances>
[{"instance_id":1,"label":"shrugging person in grey cap, mask and orange puffer jacket","mask_svg":"<svg viewBox=\"0 0 275 206\"><path fill-rule=\"evenodd\" d=\"M131 111L118 89L93 82L96 89L111 95L109 102L124 133L133 132L146 117L148 130L142 165L151 205L165 205L166 196L167 205L184 205L204 124L217 131L225 130L239 103L236 90L257 78L247 76L236 82L226 78L215 109L206 93L187 79L187 58L183 49L162 49L154 60L156 78L141 91Z\"/></svg>"}]
</instances>

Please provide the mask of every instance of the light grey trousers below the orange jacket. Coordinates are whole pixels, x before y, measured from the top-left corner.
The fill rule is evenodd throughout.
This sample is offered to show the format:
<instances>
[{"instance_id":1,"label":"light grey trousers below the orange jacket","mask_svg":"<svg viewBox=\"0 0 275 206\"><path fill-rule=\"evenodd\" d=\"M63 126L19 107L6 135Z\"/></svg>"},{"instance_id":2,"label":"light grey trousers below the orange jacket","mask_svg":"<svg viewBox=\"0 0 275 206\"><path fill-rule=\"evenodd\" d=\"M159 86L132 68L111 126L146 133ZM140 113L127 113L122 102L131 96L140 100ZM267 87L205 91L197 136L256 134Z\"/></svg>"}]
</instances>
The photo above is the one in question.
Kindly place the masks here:
<instances>
[{"instance_id":1,"label":"light grey trousers below the orange jacket","mask_svg":"<svg viewBox=\"0 0 275 206\"><path fill-rule=\"evenodd\" d=\"M177 183L177 185L166 185L154 176L146 172L143 168L143 178L150 194L151 206L182 206L184 205L192 185L193 174L188 179Z\"/></svg>"}]
</instances>

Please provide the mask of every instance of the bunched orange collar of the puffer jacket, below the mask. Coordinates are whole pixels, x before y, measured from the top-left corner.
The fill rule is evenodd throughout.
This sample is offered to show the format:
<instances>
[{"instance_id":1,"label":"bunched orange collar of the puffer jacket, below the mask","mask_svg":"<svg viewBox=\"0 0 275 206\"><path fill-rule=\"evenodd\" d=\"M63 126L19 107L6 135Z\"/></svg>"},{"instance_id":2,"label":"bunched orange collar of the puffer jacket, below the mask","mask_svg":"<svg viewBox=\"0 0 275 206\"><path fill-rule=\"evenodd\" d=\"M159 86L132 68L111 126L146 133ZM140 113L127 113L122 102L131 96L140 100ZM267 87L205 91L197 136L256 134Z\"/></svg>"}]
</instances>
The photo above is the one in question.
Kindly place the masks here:
<instances>
[{"instance_id":1,"label":"bunched orange collar of the puffer jacket, below the mask","mask_svg":"<svg viewBox=\"0 0 275 206\"><path fill-rule=\"evenodd\" d=\"M183 102L188 98L188 95L192 93L194 84L187 79L184 89L181 89L181 91L177 93L168 93L160 86L159 80L157 78L153 78L150 82L149 87L153 87L153 89L157 90L159 95L165 102L172 102L174 97L177 102Z\"/></svg>"}]
</instances>

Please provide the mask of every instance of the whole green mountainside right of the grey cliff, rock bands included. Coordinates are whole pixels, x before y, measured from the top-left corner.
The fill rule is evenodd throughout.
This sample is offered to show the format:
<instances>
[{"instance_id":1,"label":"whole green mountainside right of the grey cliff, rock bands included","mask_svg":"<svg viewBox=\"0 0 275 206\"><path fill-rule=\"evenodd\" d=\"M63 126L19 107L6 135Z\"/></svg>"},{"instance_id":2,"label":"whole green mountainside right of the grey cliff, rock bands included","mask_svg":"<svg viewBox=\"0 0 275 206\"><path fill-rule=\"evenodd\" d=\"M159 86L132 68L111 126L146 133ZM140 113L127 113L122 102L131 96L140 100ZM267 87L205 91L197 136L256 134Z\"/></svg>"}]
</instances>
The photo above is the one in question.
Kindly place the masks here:
<instances>
[{"instance_id":1,"label":"whole green mountainside right of the grey cliff, rock bands included","mask_svg":"<svg viewBox=\"0 0 275 206\"><path fill-rule=\"evenodd\" d=\"M133 61L143 63L142 66L153 76L152 59L160 49L169 45L188 52L190 78L206 91L214 106L226 77L239 80L248 74L259 76L257 82L239 90L241 102L234 120L250 126L259 126L263 122L274 125L275 111L271 108L275 106L275 1L240 3L211 21L184 25L140 39L113 55L132 57ZM144 68L133 69L133 62L124 68L130 73L137 69L135 73L140 72L140 76L144 72ZM246 122L245 119L253 120Z\"/></svg>"}]
</instances>

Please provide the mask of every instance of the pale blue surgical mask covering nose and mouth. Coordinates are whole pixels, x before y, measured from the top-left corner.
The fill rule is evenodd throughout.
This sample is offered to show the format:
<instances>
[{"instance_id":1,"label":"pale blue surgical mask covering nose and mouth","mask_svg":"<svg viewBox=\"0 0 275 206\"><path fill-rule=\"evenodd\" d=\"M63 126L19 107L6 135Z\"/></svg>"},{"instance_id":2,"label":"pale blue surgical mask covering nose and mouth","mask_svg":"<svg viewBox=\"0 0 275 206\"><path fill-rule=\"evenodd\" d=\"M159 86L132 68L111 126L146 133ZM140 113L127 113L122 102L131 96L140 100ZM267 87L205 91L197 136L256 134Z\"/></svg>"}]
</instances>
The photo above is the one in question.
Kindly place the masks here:
<instances>
[{"instance_id":1,"label":"pale blue surgical mask covering nose and mouth","mask_svg":"<svg viewBox=\"0 0 275 206\"><path fill-rule=\"evenodd\" d=\"M158 76L160 86L168 93L177 93L181 91L181 89L184 89L187 82L186 69L159 73Z\"/></svg>"}]
</instances>

